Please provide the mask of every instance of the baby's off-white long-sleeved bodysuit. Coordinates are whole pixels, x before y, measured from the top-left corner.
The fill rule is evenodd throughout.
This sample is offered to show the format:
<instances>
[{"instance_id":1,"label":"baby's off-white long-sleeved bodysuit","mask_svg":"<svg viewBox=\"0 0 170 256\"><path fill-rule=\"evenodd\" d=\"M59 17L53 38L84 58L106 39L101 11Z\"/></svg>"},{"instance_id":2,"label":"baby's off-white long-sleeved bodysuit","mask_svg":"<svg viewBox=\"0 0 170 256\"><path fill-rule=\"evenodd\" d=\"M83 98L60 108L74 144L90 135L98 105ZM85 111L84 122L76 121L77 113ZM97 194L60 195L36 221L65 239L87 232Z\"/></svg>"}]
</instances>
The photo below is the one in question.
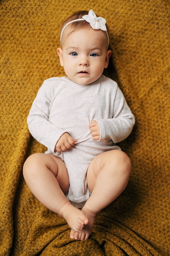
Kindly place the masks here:
<instances>
[{"instance_id":1,"label":"baby's off-white long-sleeved bodysuit","mask_svg":"<svg viewBox=\"0 0 170 256\"><path fill-rule=\"evenodd\" d=\"M88 128L92 120L99 124L100 139L92 139ZM66 195L76 207L82 207L90 192L86 183L88 165L100 153L119 149L132 131L135 118L117 83L101 76L90 85L79 85L63 77L42 84L28 116L33 137L47 147L47 154L60 157L68 169L70 188ZM64 132L77 139L65 152L55 151Z\"/></svg>"}]
</instances>

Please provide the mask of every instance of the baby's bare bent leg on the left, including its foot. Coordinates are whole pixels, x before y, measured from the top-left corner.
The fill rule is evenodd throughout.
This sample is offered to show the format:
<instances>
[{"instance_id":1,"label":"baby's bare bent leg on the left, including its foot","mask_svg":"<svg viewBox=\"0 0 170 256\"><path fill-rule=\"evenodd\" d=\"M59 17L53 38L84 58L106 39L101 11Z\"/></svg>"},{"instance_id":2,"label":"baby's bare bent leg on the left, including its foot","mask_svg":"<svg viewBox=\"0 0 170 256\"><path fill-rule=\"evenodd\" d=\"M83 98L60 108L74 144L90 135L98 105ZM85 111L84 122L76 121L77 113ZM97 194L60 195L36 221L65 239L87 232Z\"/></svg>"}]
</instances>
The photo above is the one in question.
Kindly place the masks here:
<instances>
[{"instance_id":1,"label":"baby's bare bent leg on the left, including its foot","mask_svg":"<svg viewBox=\"0 0 170 256\"><path fill-rule=\"evenodd\" d=\"M81 231L88 218L66 199L69 177L64 162L55 155L33 154L23 166L24 179L35 197L65 218L71 229Z\"/></svg>"}]
</instances>

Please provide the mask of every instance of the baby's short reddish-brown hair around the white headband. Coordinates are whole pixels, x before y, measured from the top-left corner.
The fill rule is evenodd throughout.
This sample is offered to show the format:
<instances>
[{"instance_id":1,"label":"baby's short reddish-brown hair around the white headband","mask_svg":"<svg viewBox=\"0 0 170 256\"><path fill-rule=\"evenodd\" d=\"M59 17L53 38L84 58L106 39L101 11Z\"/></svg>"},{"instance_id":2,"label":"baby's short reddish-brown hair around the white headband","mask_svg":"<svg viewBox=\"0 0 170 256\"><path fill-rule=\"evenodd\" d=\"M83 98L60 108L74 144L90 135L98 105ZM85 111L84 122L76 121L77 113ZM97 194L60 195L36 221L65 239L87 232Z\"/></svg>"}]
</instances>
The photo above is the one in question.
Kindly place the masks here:
<instances>
[{"instance_id":1,"label":"baby's short reddish-brown hair around the white headband","mask_svg":"<svg viewBox=\"0 0 170 256\"><path fill-rule=\"evenodd\" d=\"M60 36L62 33L62 29L64 28L64 26L72 21L72 20L77 20L77 19L81 19L82 16L84 15L88 15L88 11L84 10L84 11L76 11L75 13L73 13L71 16L69 16L66 20L64 20L64 22L62 23L61 29L60 29ZM75 22L72 22L71 24L69 24L70 28L72 29L72 31L70 33L72 33L73 31L77 31L79 29L82 28L88 28L91 27L89 22L86 22L86 20L78 20ZM107 32L108 32L108 36L109 36L109 29L108 26L106 24L106 28L107 28Z\"/></svg>"}]
</instances>

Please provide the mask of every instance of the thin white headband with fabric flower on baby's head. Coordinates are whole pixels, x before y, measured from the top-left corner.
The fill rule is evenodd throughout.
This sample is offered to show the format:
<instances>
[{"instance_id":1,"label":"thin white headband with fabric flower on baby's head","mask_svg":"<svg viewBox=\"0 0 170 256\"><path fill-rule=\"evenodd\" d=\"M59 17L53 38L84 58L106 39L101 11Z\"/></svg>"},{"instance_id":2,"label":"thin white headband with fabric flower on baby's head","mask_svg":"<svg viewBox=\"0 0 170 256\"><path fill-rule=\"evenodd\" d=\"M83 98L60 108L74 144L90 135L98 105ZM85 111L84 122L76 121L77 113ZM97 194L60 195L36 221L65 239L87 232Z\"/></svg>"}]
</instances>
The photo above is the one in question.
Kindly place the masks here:
<instances>
[{"instance_id":1,"label":"thin white headband with fabric flower on baby's head","mask_svg":"<svg viewBox=\"0 0 170 256\"><path fill-rule=\"evenodd\" d=\"M76 21L79 21L79 20L86 20L87 22L90 23L91 27L93 29L101 29L101 30L104 30L106 31L106 35L107 35L107 38L108 38L108 32L107 32L107 28L106 28L106 20L102 17L97 17L96 14L94 13L93 10L90 10L88 12L88 15L84 15L82 16L82 18L80 19L76 19L76 20L71 20L70 22L68 22L62 29L61 31L61 35L60 35L60 42L62 41L62 34L63 34L63 31L64 29L71 23L73 22L76 22ZM109 38L108 38L108 45L109 45Z\"/></svg>"}]
</instances>

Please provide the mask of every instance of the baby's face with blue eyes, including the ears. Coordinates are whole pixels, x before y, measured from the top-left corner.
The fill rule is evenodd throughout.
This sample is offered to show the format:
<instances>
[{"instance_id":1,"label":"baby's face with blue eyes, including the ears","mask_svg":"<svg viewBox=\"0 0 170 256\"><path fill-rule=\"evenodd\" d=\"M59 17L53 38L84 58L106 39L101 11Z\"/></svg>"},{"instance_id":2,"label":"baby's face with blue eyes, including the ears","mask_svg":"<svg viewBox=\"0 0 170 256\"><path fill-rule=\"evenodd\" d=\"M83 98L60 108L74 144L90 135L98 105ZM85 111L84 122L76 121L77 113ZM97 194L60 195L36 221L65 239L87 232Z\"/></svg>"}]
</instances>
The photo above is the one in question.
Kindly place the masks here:
<instances>
[{"instance_id":1,"label":"baby's face with blue eyes, including the ears","mask_svg":"<svg viewBox=\"0 0 170 256\"><path fill-rule=\"evenodd\" d=\"M92 28L79 29L70 34L69 27L62 36L62 49L57 52L68 77L80 85L95 82L108 67L111 54L106 32Z\"/></svg>"}]
</instances>

